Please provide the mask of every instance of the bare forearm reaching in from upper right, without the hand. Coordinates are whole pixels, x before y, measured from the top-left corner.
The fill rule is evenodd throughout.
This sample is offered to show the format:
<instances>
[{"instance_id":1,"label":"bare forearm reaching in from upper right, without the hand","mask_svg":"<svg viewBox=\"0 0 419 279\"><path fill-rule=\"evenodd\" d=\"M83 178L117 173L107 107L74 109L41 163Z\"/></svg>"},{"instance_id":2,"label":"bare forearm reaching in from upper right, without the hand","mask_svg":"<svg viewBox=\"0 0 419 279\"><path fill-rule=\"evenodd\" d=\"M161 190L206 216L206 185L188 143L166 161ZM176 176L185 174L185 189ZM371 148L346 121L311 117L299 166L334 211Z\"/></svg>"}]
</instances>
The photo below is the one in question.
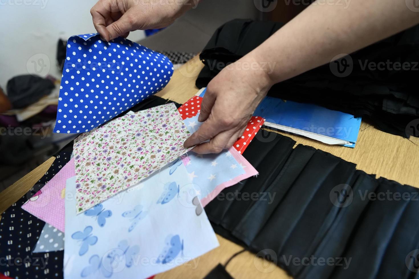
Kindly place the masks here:
<instances>
[{"instance_id":1,"label":"bare forearm reaching in from upper right, without the hand","mask_svg":"<svg viewBox=\"0 0 419 279\"><path fill-rule=\"evenodd\" d=\"M275 63L268 73L274 84L417 23L419 13L404 0L351 0L346 9L313 3L246 56Z\"/></svg>"}]
</instances>

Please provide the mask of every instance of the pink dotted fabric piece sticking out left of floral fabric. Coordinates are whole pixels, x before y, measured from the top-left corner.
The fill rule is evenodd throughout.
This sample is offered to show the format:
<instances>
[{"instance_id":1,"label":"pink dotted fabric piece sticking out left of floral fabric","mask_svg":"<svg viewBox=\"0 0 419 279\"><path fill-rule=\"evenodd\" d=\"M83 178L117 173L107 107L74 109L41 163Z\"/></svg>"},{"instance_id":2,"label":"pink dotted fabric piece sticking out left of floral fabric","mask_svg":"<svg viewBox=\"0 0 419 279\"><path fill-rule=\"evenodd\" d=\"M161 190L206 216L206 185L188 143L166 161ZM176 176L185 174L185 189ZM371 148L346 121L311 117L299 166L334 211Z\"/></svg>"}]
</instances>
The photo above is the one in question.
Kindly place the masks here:
<instances>
[{"instance_id":1,"label":"pink dotted fabric piece sticking out left of floral fabric","mask_svg":"<svg viewBox=\"0 0 419 279\"><path fill-rule=\"evenodd\" d=\"M22 206L24 210L47 222L49 225L64 231L64 199L65 183L67 179L75 176L74 158L65 166L59 165L60 171L45 186L40 193L28 200ZM36 199L34 199L36 197ZM51 250L50 250L51 251Z\"/></svg>"}]
</instances>

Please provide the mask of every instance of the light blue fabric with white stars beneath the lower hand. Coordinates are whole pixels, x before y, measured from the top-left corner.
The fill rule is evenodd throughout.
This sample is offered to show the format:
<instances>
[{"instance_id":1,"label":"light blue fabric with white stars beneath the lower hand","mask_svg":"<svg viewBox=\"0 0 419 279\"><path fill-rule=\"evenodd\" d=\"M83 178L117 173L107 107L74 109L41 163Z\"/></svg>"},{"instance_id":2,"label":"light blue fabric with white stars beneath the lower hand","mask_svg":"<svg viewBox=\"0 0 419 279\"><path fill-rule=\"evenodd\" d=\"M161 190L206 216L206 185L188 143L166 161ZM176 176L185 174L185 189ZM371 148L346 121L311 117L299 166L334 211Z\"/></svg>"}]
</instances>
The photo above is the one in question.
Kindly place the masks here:
<instances>
[{"instance_id":1,"label":"light blue fabric with white stars beneath the lower hand","mask_svg":"<svg viewBox=\"0 0 419 279\"><path fill-rule=\"evenodd\" d=\"M186 118L184 123L189 132L194 133L202 125L198 122L198 115ZM230 151L224 150L219 154L196 154L188 152L184 159L189 177L195 184L194 188L201 192L201 199L207 197L218 185L230 179L245 174L243 166L239 164Z\"/></svg>"}]
</instances>

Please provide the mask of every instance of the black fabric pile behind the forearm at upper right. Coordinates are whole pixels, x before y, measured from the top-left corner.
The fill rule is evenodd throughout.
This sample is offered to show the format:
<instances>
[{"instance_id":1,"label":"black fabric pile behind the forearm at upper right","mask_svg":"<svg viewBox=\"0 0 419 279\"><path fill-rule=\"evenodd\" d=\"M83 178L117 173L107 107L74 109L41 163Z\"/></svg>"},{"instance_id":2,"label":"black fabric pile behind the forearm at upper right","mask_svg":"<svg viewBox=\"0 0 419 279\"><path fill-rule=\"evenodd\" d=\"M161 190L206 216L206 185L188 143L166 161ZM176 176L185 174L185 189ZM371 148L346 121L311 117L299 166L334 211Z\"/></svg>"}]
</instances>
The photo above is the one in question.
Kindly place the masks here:
<instances>
[{"instance_id":1,"label":"black fabric pile behind the forearm at upper right","mask_svg":"<svg viewBox=\"0 0 419 279\"><path fill-rule=\"evenodd\" d=\"M206 87L226 64L255 49L282 26L282 23L237 19L218 28L199 55L205 66L197 78L197 87ZM326 64L275 84L268 95L361 116L371 120L382 131L406 137L407 124L419 117L416 80L419 73L419 26L350 56L353 68L346 77L336 76L336 72ZM350 60L346 61L350 64ZM380 64L383 70L371 70L367 66L380 62L385 63L385 66ZM405 69L398 70L398 64L406 64Z\"/></svg>"}]
</instances>

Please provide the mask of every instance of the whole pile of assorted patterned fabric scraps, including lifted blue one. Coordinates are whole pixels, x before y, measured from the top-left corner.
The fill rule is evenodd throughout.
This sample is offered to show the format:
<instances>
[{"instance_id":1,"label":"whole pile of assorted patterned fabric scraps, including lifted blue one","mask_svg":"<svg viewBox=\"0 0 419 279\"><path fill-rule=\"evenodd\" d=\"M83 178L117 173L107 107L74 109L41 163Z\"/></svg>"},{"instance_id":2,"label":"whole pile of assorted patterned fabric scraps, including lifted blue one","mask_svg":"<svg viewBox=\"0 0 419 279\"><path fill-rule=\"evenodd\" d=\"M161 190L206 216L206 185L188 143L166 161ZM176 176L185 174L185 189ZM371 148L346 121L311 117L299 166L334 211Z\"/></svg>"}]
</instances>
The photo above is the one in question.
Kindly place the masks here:
<instances>
[{"instance_id":1,"label":"whole pile of assorted patterned fabric scraps, including lifted blue one","mask_svg":"<svg viewBox=\"0 0 419 279\"><path fill-rule=\"evenodd\" d=\"M5 276L147 278L218 246L204 205L258 172L235 148L184 148L199 109L186 120L180 105L152 96L172 71L123 38L69 39L55 129L84 133L3 213Z\"/></svg>"}]
</instances>

